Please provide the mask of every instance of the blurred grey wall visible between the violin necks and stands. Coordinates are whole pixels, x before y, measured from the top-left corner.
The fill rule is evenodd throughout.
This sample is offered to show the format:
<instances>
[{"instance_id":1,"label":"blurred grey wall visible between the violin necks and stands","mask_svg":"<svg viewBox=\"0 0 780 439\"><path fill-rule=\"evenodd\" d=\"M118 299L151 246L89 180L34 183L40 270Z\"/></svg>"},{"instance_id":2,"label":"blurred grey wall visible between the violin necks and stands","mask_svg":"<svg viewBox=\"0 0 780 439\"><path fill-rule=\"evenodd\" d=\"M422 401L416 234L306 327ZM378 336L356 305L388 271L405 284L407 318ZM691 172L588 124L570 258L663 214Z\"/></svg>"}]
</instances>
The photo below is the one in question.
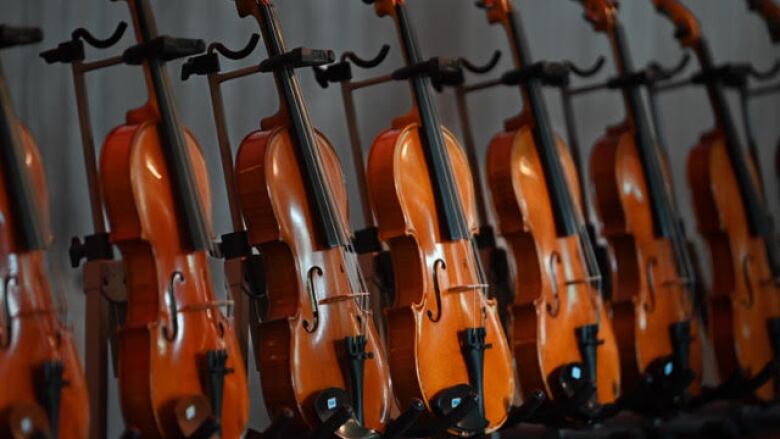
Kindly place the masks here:
<instances>
[{"instance_id":1,"label":"blurred grey wall visible between the violin necks and stands","mask_svg":"<svg viewBox=\"0 0 780 439\"><path fill-rule=\"evenodd\" d=\"M372 7L359 0L278 0L276 3L289 48L328 48L337 54L352 50L363 57L373 57L382 44L388 43L392 46L388 60L373 72L355 69L356 78L384 74L400 66L400 51L391 20L378 18ZM498 49L504 51L505 56L495 72L511 68L505 35L499 27L488 25L484 12L473 3L472 0L409 1L424 56L464 56L479 64ZM535 59L571 60L580 65L591 65L603 55L607 57L607 64L595 80L614 74L607 39L592 31L582 19L582 8L575 2L515 0L515 3ZM684 3L699 17L716 62L751 62L758 68L766 68L780 56L780 50L771 45L764 22L748 12L745 0L684 0ZM220 41L238 49L252 33L258 32L253 20L238 17L230 1L151 0L151 4L161 34L202 38L207 43ZM72 236L92 233L92 225L72 77L69 66L47 65L38 53L69 39L76 27L86 27L95 35L106 37L119 21L129 22L128 11L124 2L106 0L0 0L0 5L3 24L41 26L45 33L44 42L37 47L3 51L2 62L17 112L37 138L47 168L55 233L50 251L52 284L67 303L68 322L81 343L84 319L88 316L84 315L81 271L70 268L67 249ZM655 12L651 1L626 0L620 6L620 18L627 31L635 65L644 67L651 61L675 64L682 53L672 37L673 28ZM95 59L113 55L129 44L132 44L130 33L106 53L91 51L87 56ZM223 68L246 66L264 57L263 51L258 50L253 58L243 62L223 61ZM170 64L173 86L181 118L200 140L210 165L212 210L219 235L230 231L230 223L207 82L203 77L181 82L178 80L180 67L180 62ZM696 62L693 61L688 73L695 70ZM344 165L350 200L357 203L355 170L351 167L340 89L338 86L321 89L310 70L300 70L299 74L315 126L336 146ZM140 69L127 66L89 75L92 123L98 145L113 127L124 122L128 109L144 103L142 79ZM732 94L737 117L740 114L738 102ZM547 96L554 127L565 136L559 94L549 90ZM276 92L270 75L255 75L227 84L224 97L235 150L247 133L258 129L261 118L276 110ZM452 91L445 91L438 99L445 124L459 135L461 127ZM622 100L616 92L599 92L575 102L578 133L587 152L608 125L622 120ZM410 96L405 84L389 84L358 92L356 103L363 146L367 151L371 140L389 125L390 120L409 109ZM472 95L469 104L475 139L484 159L490 138L502 129L506 118L520 110L519 93L496 88ZM706 95L699 88L669 93L661 98L661 104L677 197L688 230L703 252L702 242L695 233L685 163L688 151L700 134L712 126L712 115ZM751 111L758 133L764 179L769 185L767 198L776 220L780 221L780 188L771 165L780 139L780 96L754 100ZM740 131L741 128L740 125ZM355 229L363 227L357 206L353 205L351 209L351 219ZM704 258L702 262L705 272L709 273L709 261ZM213 267L215 289L220 295L224 294L221 263L215 261ZM259 377L251 365L250 375L252 425L262 428L268 423L268 417L258 387ZM109 399L109 435L116 437L123 424L114 388Z\"/></svg>"}]
</instances>

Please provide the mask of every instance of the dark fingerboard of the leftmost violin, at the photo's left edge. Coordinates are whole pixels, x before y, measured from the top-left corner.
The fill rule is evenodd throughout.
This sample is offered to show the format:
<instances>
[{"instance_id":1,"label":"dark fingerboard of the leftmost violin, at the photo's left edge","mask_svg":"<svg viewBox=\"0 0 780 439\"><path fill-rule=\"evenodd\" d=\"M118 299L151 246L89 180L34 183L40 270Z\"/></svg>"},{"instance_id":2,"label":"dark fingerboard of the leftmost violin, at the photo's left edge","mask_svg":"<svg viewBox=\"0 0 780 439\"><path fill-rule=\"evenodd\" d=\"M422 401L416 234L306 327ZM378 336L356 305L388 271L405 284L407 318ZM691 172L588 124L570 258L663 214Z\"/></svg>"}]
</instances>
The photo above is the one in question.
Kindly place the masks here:
<instances>
[{"instance_id":1,"label":"dark fingerboard of the leftmost violin, at the photo's left edge","mask_svg":"<svg viewBox=\"0 0 780 439\"><path fill-rule=\"evenodd\" d=\"M0 65L0 166L6 191L11 201L16 247L20 250L41 250L46 246L43 218L34 193L32 178L25 164L24 149L19 136L11 94Z\"/></svg>"}]
</instances>

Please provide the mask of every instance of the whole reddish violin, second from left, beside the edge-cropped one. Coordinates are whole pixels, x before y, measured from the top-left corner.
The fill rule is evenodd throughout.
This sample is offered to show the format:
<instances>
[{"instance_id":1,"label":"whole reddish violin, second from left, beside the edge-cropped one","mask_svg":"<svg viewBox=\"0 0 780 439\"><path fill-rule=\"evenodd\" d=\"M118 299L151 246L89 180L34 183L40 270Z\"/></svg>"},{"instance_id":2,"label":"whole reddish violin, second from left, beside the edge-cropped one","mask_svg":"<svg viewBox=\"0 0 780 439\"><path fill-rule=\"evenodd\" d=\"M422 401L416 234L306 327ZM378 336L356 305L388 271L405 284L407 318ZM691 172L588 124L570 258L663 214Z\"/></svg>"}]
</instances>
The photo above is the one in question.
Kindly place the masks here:
<instances>
[{"instance_id":1,"label":"whole reddish violin, second from left, beside the edge-cropped one","mask_svg":"<svg viewBox=\"0 0 780 439\"><path fill-rule=\"evenodd\" d=\"M122 414L141 437L175 438L210 411L204 429L238 438L249 411L246 371L225 303L212 291L206 163L179 120L164 62L204 44L158 37L149 1L127 3L139 44L123 57L143 65L149 100L111 131L100 155L110 240L126 275Z\"/></svg>"}]
</instances>

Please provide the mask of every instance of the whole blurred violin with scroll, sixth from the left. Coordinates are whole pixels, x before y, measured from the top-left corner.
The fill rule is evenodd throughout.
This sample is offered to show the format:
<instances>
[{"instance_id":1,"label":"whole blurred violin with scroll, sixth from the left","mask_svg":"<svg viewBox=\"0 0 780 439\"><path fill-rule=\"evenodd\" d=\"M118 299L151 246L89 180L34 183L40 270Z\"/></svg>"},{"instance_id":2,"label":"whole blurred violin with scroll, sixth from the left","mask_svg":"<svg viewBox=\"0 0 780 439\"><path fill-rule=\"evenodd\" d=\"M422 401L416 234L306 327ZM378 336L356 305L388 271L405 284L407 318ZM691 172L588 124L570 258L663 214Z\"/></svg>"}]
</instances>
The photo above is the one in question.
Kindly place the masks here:
<instances>
[{"instance_id":1,"label":"whole blurred violin with scroll, sixth from the left","mask_svg":"<svg viewBox=\"0 0 780 439\"><path fill-rule=\"evenodd\" d=\"M653 138L616 2L581 0L612 46L626 120L594 146L590 174L616 268L610 301L626 405L678 406L701 380L696 276L662 151Z\"/></svg>"}]
</instances>

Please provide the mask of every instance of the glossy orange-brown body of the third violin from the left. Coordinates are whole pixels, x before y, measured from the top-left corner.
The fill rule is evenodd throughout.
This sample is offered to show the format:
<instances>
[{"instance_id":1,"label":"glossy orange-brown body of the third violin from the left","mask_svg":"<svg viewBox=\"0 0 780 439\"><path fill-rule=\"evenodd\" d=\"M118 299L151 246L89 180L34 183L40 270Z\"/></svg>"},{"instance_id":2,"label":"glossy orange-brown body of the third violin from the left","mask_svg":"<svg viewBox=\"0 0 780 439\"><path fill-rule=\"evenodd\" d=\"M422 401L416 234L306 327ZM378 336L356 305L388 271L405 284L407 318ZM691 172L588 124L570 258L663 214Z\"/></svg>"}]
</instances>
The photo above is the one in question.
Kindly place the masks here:
<instances>
[{"instance_id":1,"label":"glossy orange-brown body of the third violin from the left","mask_svg":"<svg viewBox=\"0 0 780 439\"><path fill-rule=\"evenodd\" d=\"M348 218L338 157L319 133L317 143L334 204ZM328 388L350 390L345 339L363 333L371 354L364 363L363 425L383 431L395 402L373 317L357 303L365 292L353 291L348 277L357 259L347 259L342 247L319 244L316 214L287 126L248 135L235 168L249 241L260 248L266 272L267 314L253 342L271 416L287 407L296 413L298 430L316 427L313 400Z\"/></svg>"}]
</instances>

